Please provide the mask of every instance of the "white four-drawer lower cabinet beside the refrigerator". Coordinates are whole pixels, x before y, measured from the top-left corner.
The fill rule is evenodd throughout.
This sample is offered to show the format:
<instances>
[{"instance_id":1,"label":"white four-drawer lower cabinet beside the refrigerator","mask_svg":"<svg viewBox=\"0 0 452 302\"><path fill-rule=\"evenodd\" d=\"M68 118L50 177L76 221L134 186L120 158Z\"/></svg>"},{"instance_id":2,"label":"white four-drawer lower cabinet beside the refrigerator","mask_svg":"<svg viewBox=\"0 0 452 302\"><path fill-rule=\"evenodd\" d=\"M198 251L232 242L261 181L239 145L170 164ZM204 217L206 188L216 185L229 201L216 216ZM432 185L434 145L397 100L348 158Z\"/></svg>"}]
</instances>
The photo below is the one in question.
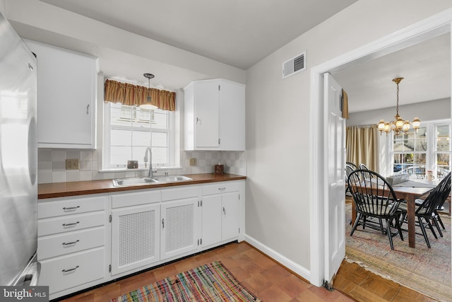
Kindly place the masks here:
<instances>
[{"instance_id":1,"label":"white four-drawer lower cabinet beside the refrigerator","mask_svg":"<svg viewBox=\"0 0 452 302\"><path fill-rule=\"evenodd\" d=\"M49 298L104 282L107 194L40 199L37 211L38 285Z\"/></svg>"}]
</instances>

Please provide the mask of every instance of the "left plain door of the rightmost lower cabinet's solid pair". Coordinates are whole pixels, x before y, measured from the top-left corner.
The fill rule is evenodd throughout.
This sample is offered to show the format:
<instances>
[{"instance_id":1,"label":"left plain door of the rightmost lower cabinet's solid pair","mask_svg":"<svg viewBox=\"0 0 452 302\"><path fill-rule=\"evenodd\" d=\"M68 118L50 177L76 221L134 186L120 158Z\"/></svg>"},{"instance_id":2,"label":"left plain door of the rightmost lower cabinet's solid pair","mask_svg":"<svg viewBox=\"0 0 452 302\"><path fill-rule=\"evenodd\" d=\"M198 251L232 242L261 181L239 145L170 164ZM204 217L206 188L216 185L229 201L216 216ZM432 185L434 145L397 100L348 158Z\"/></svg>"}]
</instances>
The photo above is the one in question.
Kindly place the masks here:
<instances>
[{"instance_id":1,"label":"left plain door of the rightmost lower cabinet's solid pair","mask_svg":"<svg viewBox=\"0 0 452 302\"><path fill-rule=\"evenodd\" d=\"M221 241L221 195L203 197L202 209L202 239L203 248Z\"/></svg>"}]
</instances>

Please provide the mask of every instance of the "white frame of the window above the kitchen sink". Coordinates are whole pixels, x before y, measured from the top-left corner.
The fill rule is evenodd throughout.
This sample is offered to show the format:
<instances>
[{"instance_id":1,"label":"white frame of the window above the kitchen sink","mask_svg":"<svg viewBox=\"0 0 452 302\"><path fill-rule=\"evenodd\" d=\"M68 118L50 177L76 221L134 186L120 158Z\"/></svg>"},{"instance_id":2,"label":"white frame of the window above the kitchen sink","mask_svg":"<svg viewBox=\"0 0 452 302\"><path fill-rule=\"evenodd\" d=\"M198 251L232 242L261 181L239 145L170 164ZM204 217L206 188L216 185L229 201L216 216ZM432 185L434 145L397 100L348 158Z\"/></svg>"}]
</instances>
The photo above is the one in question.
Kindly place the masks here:
<instances>
[{"instance_id":1,"label":"white frame of the window above the kitchen sink","mask_svg":"<svg viewBox=\"0 0 452 302\"><path fill-rule=\"evenodd\" d=\"M111 164L110 163L110 146L111 146L111 129L117 128L117 129L132 129L132 127L124 127L124 126L113 126L110 124L110 115L111 115L111 103L104 103L104 118L103 118L103 147L102 147L102 170L127 170L126 164L127 163L117 163L117 164ZM165 164L155 164L153 163L153 167L155 168L175 168L177 163L176 158L176 129L175 129L175 112L173 111L165 111L167 114L167 129L157 129L154 127L150 127L150 130L153 133L157 132L166 132L167 133L167 144L168 144L168 153L167 158L168 162ZM138 160L138 168L146 169L144 166L144 153L133 155L134 158L131 158L133 160Z\"/></svg>"}]
</instances>

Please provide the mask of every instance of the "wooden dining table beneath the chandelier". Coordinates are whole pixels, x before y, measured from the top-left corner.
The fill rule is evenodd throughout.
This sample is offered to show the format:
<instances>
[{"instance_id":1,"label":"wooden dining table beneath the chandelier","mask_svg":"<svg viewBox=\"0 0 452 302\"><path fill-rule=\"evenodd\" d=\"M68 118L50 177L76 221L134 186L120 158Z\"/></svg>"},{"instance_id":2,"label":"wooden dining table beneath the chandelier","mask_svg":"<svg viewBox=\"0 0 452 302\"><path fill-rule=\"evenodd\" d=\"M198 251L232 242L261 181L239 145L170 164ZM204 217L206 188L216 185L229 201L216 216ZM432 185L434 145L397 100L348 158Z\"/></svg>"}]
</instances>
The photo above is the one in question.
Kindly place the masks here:
<instances>
[{"instance_id":1,"label":"wooden dining table beneath the chandelier","mask_svg":"<svg viewBox=\"0 0 452 302\"><path fill-rule=\"evenodd\" d=\"M392 186L396 197L407 201L408 246L410 248L416 248L415 201L430 192L437 184L438 181L408 180ZM355 223L356 216L355 202L352 202L352 224Z\"/></svg>"}]
</instances>

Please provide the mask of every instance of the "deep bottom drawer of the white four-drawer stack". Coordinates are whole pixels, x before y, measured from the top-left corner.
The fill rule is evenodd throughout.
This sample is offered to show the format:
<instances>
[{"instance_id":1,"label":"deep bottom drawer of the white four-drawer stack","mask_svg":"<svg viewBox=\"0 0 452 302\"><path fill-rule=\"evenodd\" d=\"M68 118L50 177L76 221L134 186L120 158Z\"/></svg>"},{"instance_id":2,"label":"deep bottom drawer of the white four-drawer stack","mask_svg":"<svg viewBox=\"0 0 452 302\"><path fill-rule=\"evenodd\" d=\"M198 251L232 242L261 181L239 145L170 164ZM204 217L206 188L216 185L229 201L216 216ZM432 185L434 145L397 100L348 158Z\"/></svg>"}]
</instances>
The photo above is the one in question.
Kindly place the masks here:
<instances>
[{"instance_id":1,"label":"deep bottom drawer of the white four-drawer stack","mask_svg":"<svg viewBox=\"0 0 452 302\"><path fill-rule=\"evenodd\" d=\"M49 294L85 284L105 275L105 248L86 250L49 260L42 260L38 281L49 286Z\"/></svg>"}]
</instances>

